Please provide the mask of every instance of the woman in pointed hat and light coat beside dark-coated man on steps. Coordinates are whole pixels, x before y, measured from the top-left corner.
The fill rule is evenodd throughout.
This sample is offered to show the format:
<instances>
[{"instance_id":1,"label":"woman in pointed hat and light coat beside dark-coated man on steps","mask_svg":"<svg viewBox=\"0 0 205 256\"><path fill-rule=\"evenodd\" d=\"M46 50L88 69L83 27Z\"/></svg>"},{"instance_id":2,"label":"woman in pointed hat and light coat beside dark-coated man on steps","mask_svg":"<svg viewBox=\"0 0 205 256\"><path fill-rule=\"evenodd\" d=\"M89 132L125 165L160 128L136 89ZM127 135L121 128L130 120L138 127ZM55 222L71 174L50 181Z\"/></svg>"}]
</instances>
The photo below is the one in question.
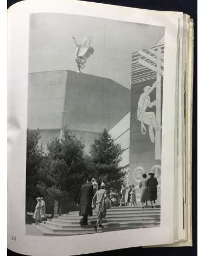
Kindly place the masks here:
<instances>
[{"instance_id":1,"label":"woman in pointed hat and light coat beside dark-coated man on steps","mask_svg":"<svg viewBox=\"0 0 205 256\"><path fill-rule=\"evenodd\" d=\"M97 231L98 225L100 228L103 228L102 226L102 219L106 216L106 210L108 208L111 208L111 202L107 198L107 191L105 189L105 183L102 182L100 185L100 189L95 193L93 196L92 201L92 208L96 208L97 212L97 222L95 225L95 231Z\"/></svg>"}]
</instances>

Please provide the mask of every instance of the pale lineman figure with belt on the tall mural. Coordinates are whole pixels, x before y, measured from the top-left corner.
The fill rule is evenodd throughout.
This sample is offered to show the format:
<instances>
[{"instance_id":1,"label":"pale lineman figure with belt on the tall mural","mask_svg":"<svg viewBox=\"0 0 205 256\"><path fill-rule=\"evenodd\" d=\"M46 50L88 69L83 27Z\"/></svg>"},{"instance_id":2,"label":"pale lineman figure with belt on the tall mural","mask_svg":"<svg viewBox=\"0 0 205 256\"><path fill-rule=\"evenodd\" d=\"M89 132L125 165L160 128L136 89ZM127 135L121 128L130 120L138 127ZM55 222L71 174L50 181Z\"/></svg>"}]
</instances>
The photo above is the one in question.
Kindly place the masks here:
<instances>
[{"instance_id":1,"label":"pale lineman figure with belt on the tall mural","mask_svg":"<svg viewBox=\"0 0 205 256\"><path fill-rule=\"evenodd\" d=\"M156 106L156 100L150 101L149 94L156 88L157 82L152 86L145 86L144 92L140 95L136 111L136 119L141 122L141 132L143 135L146 133L146 125L149 126L149 136L152 143L155 142L155 131L161 129L161 126L157 124L156 115L154 112L146 112L148 107Z\"/></svg>"}]
</instances>

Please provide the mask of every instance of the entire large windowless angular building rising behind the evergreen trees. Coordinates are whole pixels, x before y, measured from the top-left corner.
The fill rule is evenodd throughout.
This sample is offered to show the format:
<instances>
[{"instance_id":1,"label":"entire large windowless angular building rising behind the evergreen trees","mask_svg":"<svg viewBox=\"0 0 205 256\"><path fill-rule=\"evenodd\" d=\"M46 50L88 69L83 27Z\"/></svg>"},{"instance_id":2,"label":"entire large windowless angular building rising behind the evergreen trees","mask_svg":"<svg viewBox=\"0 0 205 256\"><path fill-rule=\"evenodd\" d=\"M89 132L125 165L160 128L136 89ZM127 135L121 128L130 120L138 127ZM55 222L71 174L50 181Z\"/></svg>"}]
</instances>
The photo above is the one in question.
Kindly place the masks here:
<instances>
[{"instance_id":1,"label":"entire large windowless angular building rising behind the evergreen trees","mask_svg":"<svg viewBox=\"0 0 205 256\"><path fill-rule=\"evenodd\" d=\"M130 89L111 79L73 71L29 74L28 128L40 129L45 150L63 125L83 140L88 152L102 130L129 111Z\"/></svg>"}]
</instances>

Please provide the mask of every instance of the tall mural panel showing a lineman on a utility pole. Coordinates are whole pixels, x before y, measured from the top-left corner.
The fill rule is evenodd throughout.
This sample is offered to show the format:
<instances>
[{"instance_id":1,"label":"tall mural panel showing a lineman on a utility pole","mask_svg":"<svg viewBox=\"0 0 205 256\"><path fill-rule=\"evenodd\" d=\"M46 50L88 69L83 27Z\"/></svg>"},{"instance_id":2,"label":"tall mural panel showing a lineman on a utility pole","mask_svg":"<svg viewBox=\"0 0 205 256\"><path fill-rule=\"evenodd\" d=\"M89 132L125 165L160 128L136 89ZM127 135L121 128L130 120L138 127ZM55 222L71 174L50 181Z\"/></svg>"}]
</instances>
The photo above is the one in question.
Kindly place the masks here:
<instances>
[{"instance_id":1,"label":"tall mural panel showing a lineman on a utility pole","mask_svg":"<svg viewBox=\"0 0 205 256\"><path fill-rule=\"evenodd\" d=\"M130 184L136 187L142 175L155 174L157 204L161 197L161 133L164 44L132 54L130 117Z\"/></svg>"}]
</instances>

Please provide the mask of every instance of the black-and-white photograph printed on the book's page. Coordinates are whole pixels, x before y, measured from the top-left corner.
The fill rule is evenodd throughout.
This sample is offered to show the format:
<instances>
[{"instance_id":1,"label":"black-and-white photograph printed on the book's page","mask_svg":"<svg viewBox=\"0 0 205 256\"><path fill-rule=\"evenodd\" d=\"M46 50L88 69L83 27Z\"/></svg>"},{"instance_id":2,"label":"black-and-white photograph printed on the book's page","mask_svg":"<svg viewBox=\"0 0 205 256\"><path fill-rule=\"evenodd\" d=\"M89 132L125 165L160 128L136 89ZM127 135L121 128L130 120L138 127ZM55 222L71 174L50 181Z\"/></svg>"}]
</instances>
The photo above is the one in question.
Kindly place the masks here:
<instances>
[{"instance_id":1,"label":"black-and-white photograph printed on the book's page","mask_svg":"<svg viewBox=\"0 0 205 256\"><path fill-rule=\"evenodd\" d=\"M158 227L164 27L30 14L25 232Z\"/></svg>"}]
</instances>

